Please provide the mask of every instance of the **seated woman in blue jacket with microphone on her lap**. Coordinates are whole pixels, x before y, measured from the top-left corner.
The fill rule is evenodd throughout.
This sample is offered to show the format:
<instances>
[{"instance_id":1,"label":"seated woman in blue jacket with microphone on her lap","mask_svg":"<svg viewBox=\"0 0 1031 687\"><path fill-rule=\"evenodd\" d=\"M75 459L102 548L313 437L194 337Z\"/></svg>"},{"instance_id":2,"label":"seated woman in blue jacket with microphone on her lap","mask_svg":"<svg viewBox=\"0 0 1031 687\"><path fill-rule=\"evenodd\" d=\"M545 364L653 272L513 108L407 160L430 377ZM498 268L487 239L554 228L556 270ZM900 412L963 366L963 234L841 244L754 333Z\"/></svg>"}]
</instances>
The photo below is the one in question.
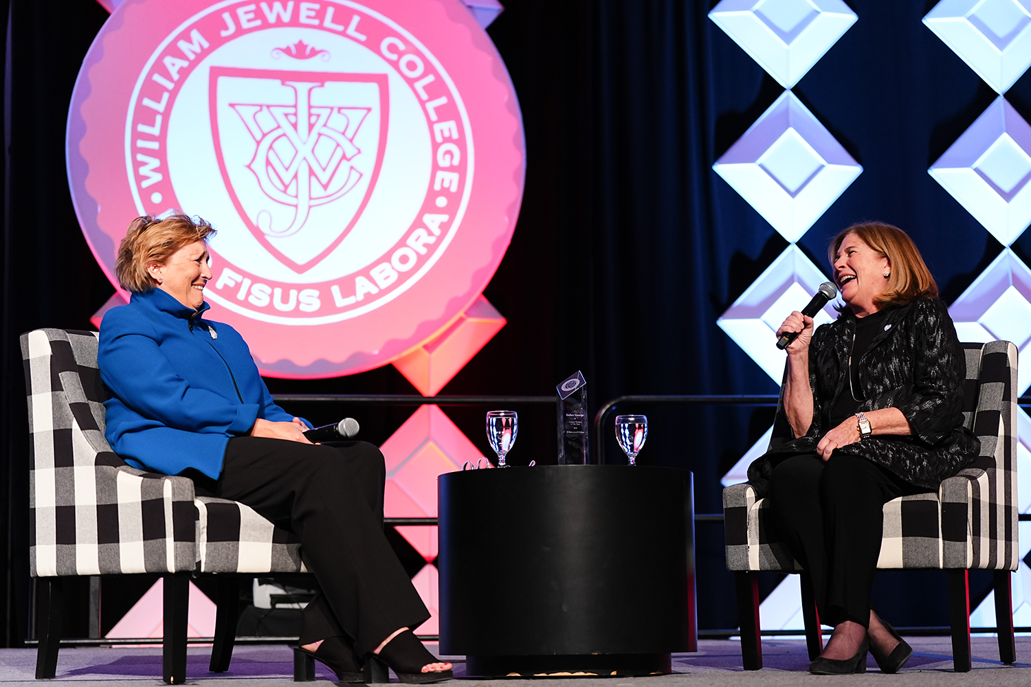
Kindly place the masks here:
<instances>
[{"instance_id":1,"label":"seated woman in blue jacket with microphone on her lap","mask_svg":"<svg viewBox=\"0 0 1031 687\"><path fill-rule=\"evenodd\" d=\"M132 300L100 327L108 442L135 468L187 475L199 493L290 522L322 588L301 650L341 681L360 682L370 653L402 682L451 678L409 629L429 613L384 537L383 454L365 442L311 444L240 335L204 319L212 234L182 214L129 226L114 271Z\"/></svg>"}]
</instances>

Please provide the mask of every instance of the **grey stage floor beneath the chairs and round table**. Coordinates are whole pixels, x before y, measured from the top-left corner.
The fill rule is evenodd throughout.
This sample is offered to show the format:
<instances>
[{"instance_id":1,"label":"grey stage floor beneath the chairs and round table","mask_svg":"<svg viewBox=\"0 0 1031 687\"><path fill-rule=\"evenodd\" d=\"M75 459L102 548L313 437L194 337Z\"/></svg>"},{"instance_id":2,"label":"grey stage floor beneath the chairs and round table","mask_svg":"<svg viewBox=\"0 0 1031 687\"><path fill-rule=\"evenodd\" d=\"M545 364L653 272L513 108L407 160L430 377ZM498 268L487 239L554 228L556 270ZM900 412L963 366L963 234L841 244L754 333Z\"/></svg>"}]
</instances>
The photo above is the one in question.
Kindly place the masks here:
<instances>
[{"instance_id":1,"label":"grey stage floor beneath the chairs and round table","mask_svg":"<svg viewBox=\"0 0 1031 687\"><path fill-rule=\"evenodd\" d=\"M993 687L1004 685L1025 687L1031 685L1031 638L1018 638L1017 657L1020 662L1003 665L999 662L998 645L994 638L974 638L973 671L953 673L952 647L949 638L909 639L914 654L906 668L897 676L883 676L871 657L869 673L865 676L818 677L806 673L808 657L803 642L768 641L763 643L762 671L741 671L740 645L725 640L704 640L695 654L674 654L673 675L653 678L579 678L577 686L599 685L621 687L631 683L646 683L654 687L702 687L705 685L849 685L876 684L908 685L977 685ZM436 653L435 645L428 645ZM237 647L230 672L217 675L207 672L210 650L189 650L188 685L201 687L228 687L259 685L260 687L286 687L294 685L293 663L289 648L284 646ZM456 657L461 658L461 657ZM0 685L71 685L94 683L104 685L161 684L161 649L62 649L58 660L57 678L45 683L36 682L36 652L34 649L0 649ZM319 680L326 684L332 674L317 664ZM487 681L465 677L464 662L456 660L455 676L468 685L512 685L533 682L535 685L562 685L568 679L498 680Z\"/></svg>"}]
</instances>

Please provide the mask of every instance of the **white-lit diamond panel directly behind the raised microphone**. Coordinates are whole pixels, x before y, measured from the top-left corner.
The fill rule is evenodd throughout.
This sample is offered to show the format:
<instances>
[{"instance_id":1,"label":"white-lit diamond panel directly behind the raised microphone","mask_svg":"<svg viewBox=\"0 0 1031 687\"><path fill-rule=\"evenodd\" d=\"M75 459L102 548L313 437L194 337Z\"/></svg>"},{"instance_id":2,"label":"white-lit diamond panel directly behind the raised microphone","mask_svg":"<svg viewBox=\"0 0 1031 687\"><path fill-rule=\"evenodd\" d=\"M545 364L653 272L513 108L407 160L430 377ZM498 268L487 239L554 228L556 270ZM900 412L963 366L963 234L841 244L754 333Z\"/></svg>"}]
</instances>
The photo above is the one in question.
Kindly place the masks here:
<instances>
[{"instance_id":1,"label":"white-lit diamond panel directly behind the raised microphone","mask_svg":"<svg viewBox=\"0 0 1031 687\"><path fill-rule=\"evenodd\" d=\"M774 334L788 315L801 310L825 281L827 277L812 261L798 246L790 245L723 313L717 324L779 384L786 353L777 349ZM817 313L813 318L817 327L837 317L833 303Z\"/></svg>"}]
</instances>

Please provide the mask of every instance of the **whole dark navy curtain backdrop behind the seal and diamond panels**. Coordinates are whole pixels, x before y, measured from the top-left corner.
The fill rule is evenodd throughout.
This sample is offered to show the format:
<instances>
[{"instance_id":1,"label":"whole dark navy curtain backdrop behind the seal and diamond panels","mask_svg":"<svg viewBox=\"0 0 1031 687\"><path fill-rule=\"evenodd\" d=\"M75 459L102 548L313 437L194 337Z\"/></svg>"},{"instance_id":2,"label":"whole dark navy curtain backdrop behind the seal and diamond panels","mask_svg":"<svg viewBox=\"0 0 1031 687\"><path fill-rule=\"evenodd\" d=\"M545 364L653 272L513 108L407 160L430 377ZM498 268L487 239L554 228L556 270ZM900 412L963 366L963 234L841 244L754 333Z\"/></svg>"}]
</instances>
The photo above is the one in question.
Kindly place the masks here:
<instances>
[{"instance_id":1,"label":"whole dark navy curtain backdrop behind the seal and diamond panels","mask_svg":"<svg viewBox=\"0 0 1031 687\"><path fill-rule=\"evenodd\" d=\"M489 33L521 101L527 181L519 227L486 296L508 324L443 393L547 393L576 370L593 409L625 393L776 391L716 320L788 242L711 165L784 90L707 19L714 4L505 2ZM827 241L841 228L896 224L916 239L951 301L1002 246L927 168L994 93L922 25L933 1L849 4L859 21L793 91L864 171L799 246L826 269ZM10 0L9 7L0 333L6 646L26 637L30 610L18 337L38 327L89 329L112 293L78 229L64 166L72 87L106 13L94 0ZM1027 76L1007 99L1031 118ZM1031 233L1013 247L1027 262ZM391 367L269 386L412 392ZM772 419L768 408L642 410L652 428L640 461L692 470L698 512L720 510L720 477ZM459 423L481 442L474 436L481 424ZM608 459L618 460L606 441ZM697 536L699 625L733 627L722 529L700 524ZM776 581L770 576L764 588ZM975 604L988 587L976 576L972 584ZM947 624L940 574L883 574L874 596L897 625Z\"/></svg>"}]
</instances>

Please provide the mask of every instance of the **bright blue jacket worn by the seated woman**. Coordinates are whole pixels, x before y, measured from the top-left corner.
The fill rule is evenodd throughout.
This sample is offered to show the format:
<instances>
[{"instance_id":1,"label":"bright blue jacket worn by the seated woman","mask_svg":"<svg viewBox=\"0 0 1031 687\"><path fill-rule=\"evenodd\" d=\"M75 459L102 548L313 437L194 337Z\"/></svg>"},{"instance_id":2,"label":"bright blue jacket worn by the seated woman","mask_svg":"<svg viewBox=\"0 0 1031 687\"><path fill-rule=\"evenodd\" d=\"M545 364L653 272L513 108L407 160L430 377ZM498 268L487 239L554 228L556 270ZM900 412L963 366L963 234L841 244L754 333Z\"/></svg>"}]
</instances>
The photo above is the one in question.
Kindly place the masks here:
<instances>
[{"instance_id":1,"label":"bright blue jacket worn by the seated woman","mask_svg":"<svg viewBox=\"0 0 1031 687\"><path fill-rule=\"evenodd\" d=\"M293 419L236 330L203 319L208 307L195 311L155 288L104 315L97 359L111 392L107 442L134 468L218 479L232 437L258 418Z\"/></svg>"}]
</instances>

